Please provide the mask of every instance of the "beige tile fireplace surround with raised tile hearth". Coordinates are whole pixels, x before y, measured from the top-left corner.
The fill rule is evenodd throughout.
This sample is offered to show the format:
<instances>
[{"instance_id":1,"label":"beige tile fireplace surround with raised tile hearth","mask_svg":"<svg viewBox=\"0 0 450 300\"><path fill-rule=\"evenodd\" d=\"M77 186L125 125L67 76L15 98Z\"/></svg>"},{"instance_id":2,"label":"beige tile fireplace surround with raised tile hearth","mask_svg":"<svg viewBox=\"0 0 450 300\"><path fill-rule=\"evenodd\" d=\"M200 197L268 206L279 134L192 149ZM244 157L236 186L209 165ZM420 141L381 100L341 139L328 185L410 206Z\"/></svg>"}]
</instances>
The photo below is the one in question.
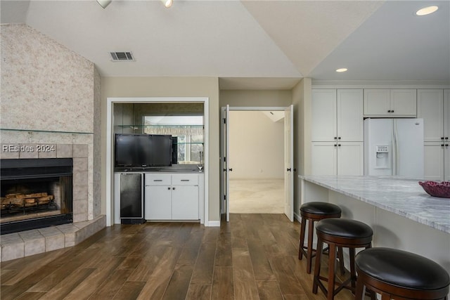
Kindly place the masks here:
<instances>
[{"instance_id":1,"label":"beige tile fireplace surround with raised tile hearth","mask_svg":"<svg viewBox=\"0 0 450 300\"><path fill-rule=\"evenodd\" d=\"M28 151L12 151L1 145L2 159L72 158L73 159L73 221L74 223L21 231L0 236L0 261L72 247L106 226L105 216L88 220L88 145L49 144L54 149L37 152L37 144L20 144ZM18 146L15 144L13 146ZM25 149L25 148L23 148ZM33 149L34 151L30 151Z\"/></svg>"}]
</instances>

